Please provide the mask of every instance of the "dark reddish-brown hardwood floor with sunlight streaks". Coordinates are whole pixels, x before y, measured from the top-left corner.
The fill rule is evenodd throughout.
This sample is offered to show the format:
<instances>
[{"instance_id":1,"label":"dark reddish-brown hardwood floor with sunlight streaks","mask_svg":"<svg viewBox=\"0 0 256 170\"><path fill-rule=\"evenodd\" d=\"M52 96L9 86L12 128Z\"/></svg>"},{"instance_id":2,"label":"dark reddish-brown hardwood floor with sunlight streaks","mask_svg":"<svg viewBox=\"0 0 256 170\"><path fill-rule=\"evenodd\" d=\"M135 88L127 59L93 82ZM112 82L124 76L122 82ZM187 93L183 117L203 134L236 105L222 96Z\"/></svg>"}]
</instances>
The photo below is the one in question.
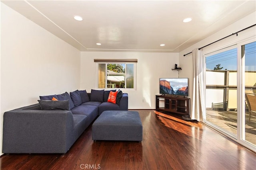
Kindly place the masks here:
<instances>
[{"instance_id":1,"label":"dark reddish-brown hardwood floor with sunlight streaks","mask_svg":"<svg viewBox=\"0 0 256 170\"><path fill-rule=\"evenodd\" d=\"M66 154L9 154L1 170L255 170L256 154L181 115L138 110L143 141L92 141L91 126Z\"/></svg>"}]
</instances>

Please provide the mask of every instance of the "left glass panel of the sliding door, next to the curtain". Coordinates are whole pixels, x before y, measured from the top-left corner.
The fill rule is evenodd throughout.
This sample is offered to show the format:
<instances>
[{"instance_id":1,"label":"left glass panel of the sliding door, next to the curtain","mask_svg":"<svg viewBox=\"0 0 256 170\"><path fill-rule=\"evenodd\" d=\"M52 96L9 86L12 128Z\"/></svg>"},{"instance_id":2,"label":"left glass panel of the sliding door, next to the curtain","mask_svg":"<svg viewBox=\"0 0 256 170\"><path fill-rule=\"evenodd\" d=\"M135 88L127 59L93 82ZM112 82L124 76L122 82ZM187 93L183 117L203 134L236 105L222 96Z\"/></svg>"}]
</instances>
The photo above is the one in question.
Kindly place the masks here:
<instances>
[{"instance_id":1,"label":"left glass panel of the sliding door, next to the curtain","mask_svg":"<svg viewBox=\"0 0 256 170\"><path fill-rule=\"evenodd\" d=\"M206 55L206 120L230 136L237 135L237 49Z\"/></svg>"}]
</instances>

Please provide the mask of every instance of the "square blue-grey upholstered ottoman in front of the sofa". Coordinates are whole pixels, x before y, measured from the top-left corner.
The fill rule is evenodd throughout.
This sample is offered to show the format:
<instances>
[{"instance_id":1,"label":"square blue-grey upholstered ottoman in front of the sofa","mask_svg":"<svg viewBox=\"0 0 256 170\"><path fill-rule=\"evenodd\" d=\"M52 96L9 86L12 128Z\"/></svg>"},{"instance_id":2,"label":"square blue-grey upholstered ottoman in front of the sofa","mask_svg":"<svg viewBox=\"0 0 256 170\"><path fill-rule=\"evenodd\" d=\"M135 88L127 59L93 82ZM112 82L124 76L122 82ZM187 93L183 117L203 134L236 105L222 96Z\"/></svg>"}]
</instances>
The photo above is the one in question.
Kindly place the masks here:
<instances>
[{"instance_id":1,"label":"square blue-grey upholstered ottoman in front of the sofa","mask_svg":"<svg viewBox=\"0 0 256 170\"><path fill-rule=\"evenodd\" d=\"M142 141L142 123L137 111L108 110L92 124L92 140Z\"/></svg>"}]
</instances>

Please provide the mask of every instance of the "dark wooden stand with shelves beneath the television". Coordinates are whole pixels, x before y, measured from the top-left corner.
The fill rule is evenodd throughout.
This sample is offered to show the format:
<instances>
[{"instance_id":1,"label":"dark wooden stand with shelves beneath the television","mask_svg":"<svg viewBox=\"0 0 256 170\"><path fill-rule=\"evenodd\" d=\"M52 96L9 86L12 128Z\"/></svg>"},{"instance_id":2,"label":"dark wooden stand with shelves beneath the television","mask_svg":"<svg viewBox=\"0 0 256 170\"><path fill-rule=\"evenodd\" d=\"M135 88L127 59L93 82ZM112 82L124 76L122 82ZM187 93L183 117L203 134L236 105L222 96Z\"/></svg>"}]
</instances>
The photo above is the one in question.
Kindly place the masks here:
<instances>
[{"instance_id":1,"label":"dark wooden stand with shelves beneath the television","mask_svg":"<svg viewBox=\"0 0 256 170\"><path fill-rule=\"evenodd\" d=\"M189 115L189 100L186 96L156 95L156 111Z\"/></svg>"}]
</instances>

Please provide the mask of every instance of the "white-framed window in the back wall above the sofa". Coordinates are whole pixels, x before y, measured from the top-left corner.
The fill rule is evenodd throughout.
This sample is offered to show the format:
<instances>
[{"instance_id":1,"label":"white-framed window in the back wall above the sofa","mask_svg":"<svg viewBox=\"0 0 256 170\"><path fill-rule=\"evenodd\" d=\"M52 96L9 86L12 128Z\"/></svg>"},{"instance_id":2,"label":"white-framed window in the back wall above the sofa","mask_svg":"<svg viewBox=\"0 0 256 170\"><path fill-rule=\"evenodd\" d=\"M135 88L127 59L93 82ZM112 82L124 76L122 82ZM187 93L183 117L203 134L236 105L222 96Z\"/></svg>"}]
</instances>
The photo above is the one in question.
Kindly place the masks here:
<instances>
[{"instance_id":1,"label":"white-framed window in the back wall above the sofa","mask_svg":"<svg viewBox=\"0 0 256 170\"><path fill-rule=\"evenodd\" d=\"M95 60L94 60L95 61ZM135 89L136 62L97 62L98 88Z\"/></svg>"}]
</instances>

